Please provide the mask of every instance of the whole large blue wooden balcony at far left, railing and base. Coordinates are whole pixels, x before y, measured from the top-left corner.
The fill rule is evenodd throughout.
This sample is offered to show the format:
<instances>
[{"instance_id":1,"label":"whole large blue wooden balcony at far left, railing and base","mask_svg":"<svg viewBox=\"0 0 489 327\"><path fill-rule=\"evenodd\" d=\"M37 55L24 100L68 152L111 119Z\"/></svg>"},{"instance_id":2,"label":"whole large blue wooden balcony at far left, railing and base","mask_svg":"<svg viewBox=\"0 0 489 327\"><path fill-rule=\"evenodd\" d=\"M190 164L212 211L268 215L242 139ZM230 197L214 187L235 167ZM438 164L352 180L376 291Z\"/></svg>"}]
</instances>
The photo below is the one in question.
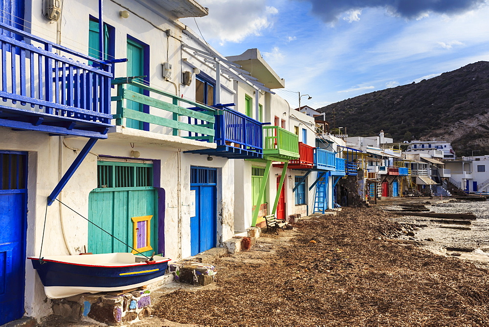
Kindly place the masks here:
<instances>
[{"instance_id":1,"label":"whole large blue wooden balcony at far left, railing and base","mask_svg":"<svg viewBox=\"0 0 489 327\"><path fill-rule=\"evenodd\" d=\"M4 23L0 27L8 31L0 34L0 126L106 139L112 126L111 65Z\"/></svg>"}]
</instances>

